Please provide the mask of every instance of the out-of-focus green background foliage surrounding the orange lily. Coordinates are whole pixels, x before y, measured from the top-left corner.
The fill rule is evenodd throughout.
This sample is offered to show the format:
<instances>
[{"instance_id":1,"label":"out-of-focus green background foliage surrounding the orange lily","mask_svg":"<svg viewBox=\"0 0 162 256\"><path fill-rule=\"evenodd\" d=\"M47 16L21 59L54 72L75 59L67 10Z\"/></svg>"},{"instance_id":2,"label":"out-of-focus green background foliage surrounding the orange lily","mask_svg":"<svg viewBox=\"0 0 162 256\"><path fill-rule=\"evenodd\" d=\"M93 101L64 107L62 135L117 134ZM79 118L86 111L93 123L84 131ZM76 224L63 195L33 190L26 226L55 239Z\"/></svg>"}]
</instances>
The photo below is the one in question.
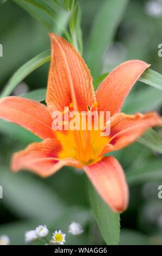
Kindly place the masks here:
<instances>
[{"instance_id":1,"label":"out-of-focus green background foliage surrounding the orange lily","mask_svg":"<svg viewBox=\"0 0 162 256\"><path fill-rule=\"evenodd\" d=\"M89 35L105 1L78 2L82 12L83 56L89 62L90 53L86 50ZM105 21L101 27L105 36L109 33L109 26ZM16 1L5 1L0 5L0 44L3 45L3 57L0 57L1 91L22 64L50 48L47 32ZM162 1L128 1L113 40L104 53L98 75L128 59L145 60L152 65L151 69L162 74L159 44L162 44ZM36 69L14 89L12 95L45 88L48 68L49 62ZM128 96L123 111L131 114L156 110L161 114L161 106L162 92L138 82ZM156 131L162 138L162 130ZM84 174L68 167L47 179L25 171L13 174L9 167L11 155L30 142L38 141L38 138L17 125L8 125L1 120L0 140L0 185L3 186L0 235L9 235L12 244L21 245L24 244L25 231L38 224L47 224L50 230L61 229L66 233L68 225L76 221L83 225L84 233L80 236L68 235L66 244L104 245L91 211ZM130 189L128 210L121 215L120 244L162 245L162 199L158 198L158 186L162 185L162 155L138 142L114 155L128 173ZM145 175L145 170L151 174ZM133 178L132 173L139 175Z\"/></svg>"}]
</instances>

